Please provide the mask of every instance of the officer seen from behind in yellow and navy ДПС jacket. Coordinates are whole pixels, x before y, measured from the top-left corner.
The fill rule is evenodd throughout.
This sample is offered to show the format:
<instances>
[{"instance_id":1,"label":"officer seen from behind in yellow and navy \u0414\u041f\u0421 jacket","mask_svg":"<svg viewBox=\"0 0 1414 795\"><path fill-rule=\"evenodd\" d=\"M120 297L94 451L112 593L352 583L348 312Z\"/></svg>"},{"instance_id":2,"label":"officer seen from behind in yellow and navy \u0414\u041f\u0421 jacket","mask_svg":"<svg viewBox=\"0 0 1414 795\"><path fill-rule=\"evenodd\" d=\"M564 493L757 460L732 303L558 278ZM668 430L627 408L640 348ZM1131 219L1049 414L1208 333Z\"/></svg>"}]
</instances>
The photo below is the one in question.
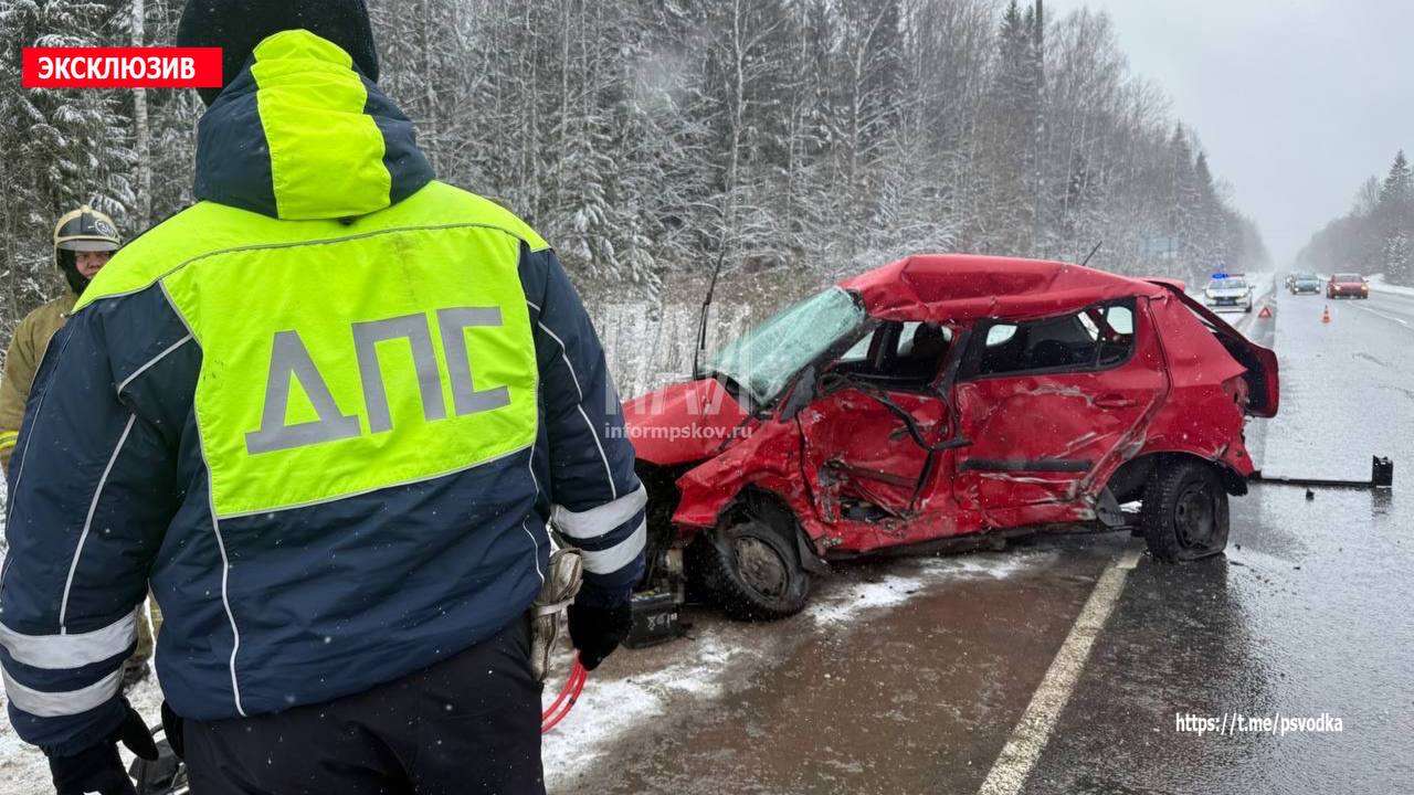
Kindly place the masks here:
<instances>
[{"instance_id":1,"label":"officer seen from behind in yellow and navy \u0414\u041f\u0421 jacket","mask_svg":"<svg viewBox=\"0 0 1414 795\"><path fill-rule=\"evenodd\" d=\"M16 448L10 720L61 794L129 791L151 587L194 792L542 792L547 523L585 550L588 666L643 567L584 307L534 231L434 178L362 0L191 0L178 42L225 48L199 201L85 291Z\"/></svg>"}]
</instances>

